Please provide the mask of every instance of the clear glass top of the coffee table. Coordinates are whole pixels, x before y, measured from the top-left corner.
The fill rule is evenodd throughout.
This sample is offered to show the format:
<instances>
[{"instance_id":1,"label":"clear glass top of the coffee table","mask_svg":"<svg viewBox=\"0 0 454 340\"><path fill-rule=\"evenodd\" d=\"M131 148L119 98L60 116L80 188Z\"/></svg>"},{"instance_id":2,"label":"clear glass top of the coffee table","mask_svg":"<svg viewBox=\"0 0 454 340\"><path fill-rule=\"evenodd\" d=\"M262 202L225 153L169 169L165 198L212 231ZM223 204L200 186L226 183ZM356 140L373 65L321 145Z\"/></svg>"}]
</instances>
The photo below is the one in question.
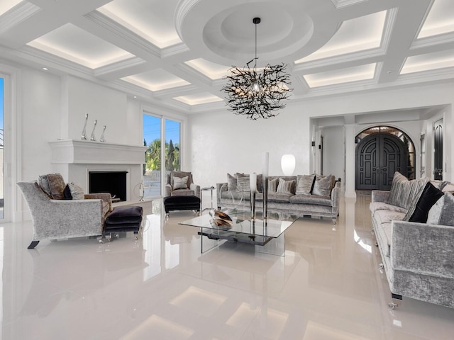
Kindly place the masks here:
<instances>
[{"instance_id":1,"label":"clear glass top of the coffee table","mask_svg":"<svg viewBox=\"0 0 454 340\"><path fill-rule=\"evenodd\" d=\"M245 210L223 210L232 219L232 225L217 226L213 222L213 217L207 212L204 215L194 217L179 225L189 225L192 227L213 229L219 231L235 232L264 237L279 237L280 234L290 227L295 220L296 215L285 213L268 212L268 218L262 219L262 213L256 214L255 220L251 220L250 211Z\"/></svg>"}]
</instances>

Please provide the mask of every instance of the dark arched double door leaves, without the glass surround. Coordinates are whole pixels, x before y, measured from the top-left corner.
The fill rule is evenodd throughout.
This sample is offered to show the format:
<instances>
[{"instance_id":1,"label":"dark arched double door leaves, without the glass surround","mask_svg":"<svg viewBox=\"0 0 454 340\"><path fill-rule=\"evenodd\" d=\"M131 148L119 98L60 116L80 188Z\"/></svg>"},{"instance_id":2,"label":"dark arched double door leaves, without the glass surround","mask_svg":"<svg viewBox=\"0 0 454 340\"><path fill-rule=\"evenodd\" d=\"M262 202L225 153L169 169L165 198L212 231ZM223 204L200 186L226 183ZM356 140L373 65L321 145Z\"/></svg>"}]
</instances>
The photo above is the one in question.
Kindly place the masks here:
<instances>
[{"instance_id":1,"label":"dark arched double door leaves, without the glass surround","mask_svg":"<svg viewBox=\"0 0 454 340\"><path fill-rule=\"evenodd\" d=\"M394 172L407 176L408 150L402 140L374 133L356 146L356 190L389 190Z\"/></svg>"}]
</instances>

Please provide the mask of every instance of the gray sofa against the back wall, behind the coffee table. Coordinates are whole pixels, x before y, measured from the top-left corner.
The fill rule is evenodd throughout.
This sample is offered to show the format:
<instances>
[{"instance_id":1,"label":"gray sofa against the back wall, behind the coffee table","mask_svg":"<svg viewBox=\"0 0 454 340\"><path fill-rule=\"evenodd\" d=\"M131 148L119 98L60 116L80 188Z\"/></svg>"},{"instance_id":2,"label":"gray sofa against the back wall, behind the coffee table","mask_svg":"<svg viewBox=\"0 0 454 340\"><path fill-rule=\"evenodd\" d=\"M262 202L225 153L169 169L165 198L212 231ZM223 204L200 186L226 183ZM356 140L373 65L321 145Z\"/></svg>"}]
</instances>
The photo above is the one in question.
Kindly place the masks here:
<instances>
[{"instance_id":1,"label":"gray sofa against the back wall, behind the coffee table","mask_svg":"<svg viewBox=\"0 0 454 340\"><path fill-rule=\"evenodd\" d=\"M244 185L238 181L244 179ZM288 184L287 191L277 192L279 179ZM306 181L306 183L303 183ZM285 212L297 216L331 217L336 224L339 213L339 197L341 182L334 176L269 176L267 208L272 212ZM304 186L306 184L306 186ZM262 179L258 175L258 193L255 196L255 209L262 210L263 193ZM282 191L282 190L280 190ZM250 208L249 177L245 174L228 174L228 181L216 183L217 206L221 208Z\"/></svg>"}]
</instances>

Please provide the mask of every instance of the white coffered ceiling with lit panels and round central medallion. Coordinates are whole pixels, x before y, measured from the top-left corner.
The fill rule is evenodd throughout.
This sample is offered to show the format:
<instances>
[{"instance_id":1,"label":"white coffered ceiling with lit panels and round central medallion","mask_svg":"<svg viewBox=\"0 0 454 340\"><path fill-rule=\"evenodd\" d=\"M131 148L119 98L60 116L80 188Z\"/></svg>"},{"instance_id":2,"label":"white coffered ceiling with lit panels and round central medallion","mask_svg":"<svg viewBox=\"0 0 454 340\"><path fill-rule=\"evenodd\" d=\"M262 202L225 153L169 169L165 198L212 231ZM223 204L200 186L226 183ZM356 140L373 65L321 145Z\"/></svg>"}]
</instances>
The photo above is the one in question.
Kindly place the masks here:
<instances>
[{"instance_id":1,"label":"white coffered ceiling with lit panels and round central medallion","mask_svg":"<svg viewBox=\"0 0 454 340\"><path fill-rule=\"evenodd\" d=\"M453 0L1 0L0 57L197 113L224 107L256 16L292 101L454 78Z\"/></svg>"}]
</instances>

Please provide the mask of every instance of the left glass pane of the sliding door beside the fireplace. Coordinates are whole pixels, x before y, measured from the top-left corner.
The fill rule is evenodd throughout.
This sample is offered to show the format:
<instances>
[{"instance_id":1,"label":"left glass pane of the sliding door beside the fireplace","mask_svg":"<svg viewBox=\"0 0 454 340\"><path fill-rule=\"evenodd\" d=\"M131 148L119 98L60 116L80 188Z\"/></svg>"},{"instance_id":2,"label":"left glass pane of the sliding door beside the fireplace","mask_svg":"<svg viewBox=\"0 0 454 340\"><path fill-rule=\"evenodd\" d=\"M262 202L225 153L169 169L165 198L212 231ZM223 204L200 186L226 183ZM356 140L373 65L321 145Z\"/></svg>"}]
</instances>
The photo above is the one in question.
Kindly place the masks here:
<instances>
[{"instance_id":1,"label":"left glass pane of the sliding door beside the fireplace","mask_svg":"<svg viewBox=\"0 0 454 340\"><path fill-rule=\"evenodd\" d=\"M143 169L144 196L161 196L161 118L143 115L143 145L145 152Z\"/></svg>"}]
</instances>

